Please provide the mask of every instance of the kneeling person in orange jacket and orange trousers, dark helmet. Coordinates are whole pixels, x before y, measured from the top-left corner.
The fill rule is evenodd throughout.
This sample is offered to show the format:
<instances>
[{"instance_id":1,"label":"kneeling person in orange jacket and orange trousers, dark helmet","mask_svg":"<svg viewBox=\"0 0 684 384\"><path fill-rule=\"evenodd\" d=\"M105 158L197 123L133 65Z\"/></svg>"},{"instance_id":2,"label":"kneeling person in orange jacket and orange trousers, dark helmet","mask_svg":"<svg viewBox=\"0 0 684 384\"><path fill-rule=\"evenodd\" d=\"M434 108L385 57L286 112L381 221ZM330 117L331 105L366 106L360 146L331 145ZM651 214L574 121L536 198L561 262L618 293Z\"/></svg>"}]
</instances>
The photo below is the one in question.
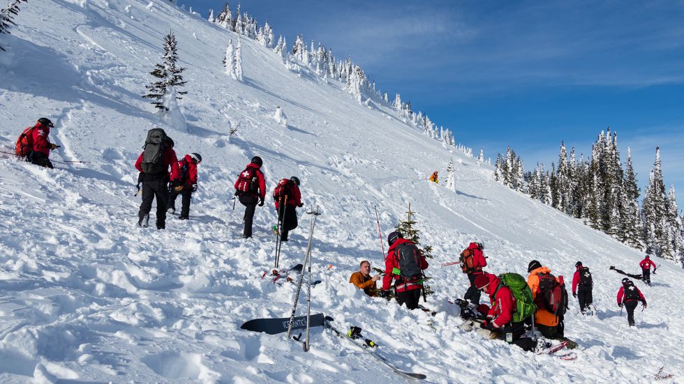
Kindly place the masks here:
<instances>
[{"instance_id":1,"label":"kneeling person in orange jacket and orange trousers, dark helmet","mask_svg":"<svg viewBox=\"0 0 684 384\"><path fill-rule=\"evenodd\" d=\"M535 312L535 326L542 332L544 337L549 339L563 338L563 316L549 312L549 305L560 304L558 302L549 302L549 290L556 289L560 285L560 279L551 275L551 270L548 267L542 266L537 260L530 261L527 271L530 275L527 278L527 284L532 290L532 296L537 305L537 312ZM553 295L554 300L560 300L558 295ZM565 305L565 304L563 304ZM559 308L560 311L560 308Z\"/></svg>"}]
</instances>

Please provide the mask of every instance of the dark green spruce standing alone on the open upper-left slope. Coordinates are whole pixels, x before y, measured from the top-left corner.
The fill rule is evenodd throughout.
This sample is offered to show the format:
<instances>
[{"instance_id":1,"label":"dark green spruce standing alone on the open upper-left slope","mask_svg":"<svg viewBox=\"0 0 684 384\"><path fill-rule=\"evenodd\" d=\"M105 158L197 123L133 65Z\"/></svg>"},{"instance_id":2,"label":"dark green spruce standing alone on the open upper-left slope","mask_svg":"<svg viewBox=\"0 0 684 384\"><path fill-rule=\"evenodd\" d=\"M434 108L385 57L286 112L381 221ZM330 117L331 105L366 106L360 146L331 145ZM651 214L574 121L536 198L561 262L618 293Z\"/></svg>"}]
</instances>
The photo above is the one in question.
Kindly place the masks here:
<instances>
[{"instance_id":1,"label":"dark green spruce standing alone on the open upper-left slope","mask_svg":"<svg viewBox=\"0 0 684 384\"><path fill-rule=\"evenodd\" d=\"M185 70L183 67L176 66L178 61L176 36L171 32L164 38L164 61L156 64L156 68L149 72L150 75L156 77L158 81L145 86L148 93L143 95L143 98L154 100L152 105L158 108L161 113L168 112L168 106L165 106L164 99L168 98L171 93L177 95L185 95L186 91L178 91L177 88L184 86L186 81L183 80L181 72ZM175 99L182 99L176 96Z\"/></svg>"}]
</instances>

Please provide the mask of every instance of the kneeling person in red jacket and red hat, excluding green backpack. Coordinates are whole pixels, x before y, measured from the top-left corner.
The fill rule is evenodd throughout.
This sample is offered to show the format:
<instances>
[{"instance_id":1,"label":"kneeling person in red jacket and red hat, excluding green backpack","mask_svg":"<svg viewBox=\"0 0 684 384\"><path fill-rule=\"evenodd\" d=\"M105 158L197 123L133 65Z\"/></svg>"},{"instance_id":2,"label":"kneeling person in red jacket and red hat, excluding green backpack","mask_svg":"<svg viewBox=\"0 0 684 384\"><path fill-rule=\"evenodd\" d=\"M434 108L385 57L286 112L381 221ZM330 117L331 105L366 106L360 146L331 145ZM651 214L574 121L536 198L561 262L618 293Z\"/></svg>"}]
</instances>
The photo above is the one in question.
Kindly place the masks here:
<instances>
[{"instance_id":1,"label":"kneeling person in red jacket and red hat, excluding green backpack","mask_svg":"<svg viewBox=\"0 0 684 384\"><path fill-rule=\"evenodd\" d=\"M529 337L521 337L525 333L525 322L513 322L513 312L516 305L511 290L501 284L496 275L486 272L477 275L474 284L477 289L489 295L491 304L486 320L480 324L480 327L500 335L510 333L512 344L523 348L524 351L532 351L537 342Z\"/></svg>"}]
</instances>

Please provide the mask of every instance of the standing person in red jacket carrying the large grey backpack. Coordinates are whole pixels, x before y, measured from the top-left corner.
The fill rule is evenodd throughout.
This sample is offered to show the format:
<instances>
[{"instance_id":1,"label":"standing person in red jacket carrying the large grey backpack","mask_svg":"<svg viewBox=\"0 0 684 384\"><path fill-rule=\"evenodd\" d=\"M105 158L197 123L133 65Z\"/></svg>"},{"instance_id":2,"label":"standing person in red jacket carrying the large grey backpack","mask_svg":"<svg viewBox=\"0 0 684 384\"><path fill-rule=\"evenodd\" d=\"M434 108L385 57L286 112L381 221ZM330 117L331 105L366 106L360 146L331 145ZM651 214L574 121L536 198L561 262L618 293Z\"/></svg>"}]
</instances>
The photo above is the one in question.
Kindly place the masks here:
<instances>
[{"instance_id":1,"label":"standing person in red jacket carrying the large grey backpack","mask_svg":"<svg viewBox=\"0 0 684 384\"><path fill-rule=\"evenodd\" d=\"M169 167L171 172L169 173ZM147 132L147 139L142 153L135 162L135 169L140 171L138 177L142 181L142 203L137 213L137 225L147 226L152 201L157 199L156 227L166 228L166 204L169 200L169 179L171 187L179 182L178 158L173 150L173 140L166 136L161 128L153 128Z\"/></svg>"}]
</instances>

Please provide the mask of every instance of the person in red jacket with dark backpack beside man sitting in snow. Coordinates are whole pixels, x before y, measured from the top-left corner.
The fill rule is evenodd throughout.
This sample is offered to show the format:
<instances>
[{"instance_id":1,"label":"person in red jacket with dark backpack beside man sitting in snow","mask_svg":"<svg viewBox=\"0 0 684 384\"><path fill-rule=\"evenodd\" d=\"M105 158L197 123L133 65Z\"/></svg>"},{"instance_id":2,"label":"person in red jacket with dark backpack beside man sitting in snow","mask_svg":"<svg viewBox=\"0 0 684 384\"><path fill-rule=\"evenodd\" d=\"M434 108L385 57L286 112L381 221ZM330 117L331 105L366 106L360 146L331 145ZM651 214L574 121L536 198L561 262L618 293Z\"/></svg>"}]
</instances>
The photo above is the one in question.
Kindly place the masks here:
<instances>
[{"instance_id":1,"label":"person in red jacket with dark backpack beside man sitting in snow","mask_svg":"<svg viewBox=\"0 0 684 384\"><path fill-rule=\"evenodd\" d=\"M399 231L389 233L387 236L389 250L385 259L385 276L382 277L382 291L388 291L394 280L396 289L396 302L399 305L406 303L408 309L416 309L423 288L423 270L428 268L428 263L420 253L415 243L403 238ZM406 257L401 261L404 270L400 269L399 255ZM382 295L387 295L385 292Z\"/></svg>"}]
</instances>

